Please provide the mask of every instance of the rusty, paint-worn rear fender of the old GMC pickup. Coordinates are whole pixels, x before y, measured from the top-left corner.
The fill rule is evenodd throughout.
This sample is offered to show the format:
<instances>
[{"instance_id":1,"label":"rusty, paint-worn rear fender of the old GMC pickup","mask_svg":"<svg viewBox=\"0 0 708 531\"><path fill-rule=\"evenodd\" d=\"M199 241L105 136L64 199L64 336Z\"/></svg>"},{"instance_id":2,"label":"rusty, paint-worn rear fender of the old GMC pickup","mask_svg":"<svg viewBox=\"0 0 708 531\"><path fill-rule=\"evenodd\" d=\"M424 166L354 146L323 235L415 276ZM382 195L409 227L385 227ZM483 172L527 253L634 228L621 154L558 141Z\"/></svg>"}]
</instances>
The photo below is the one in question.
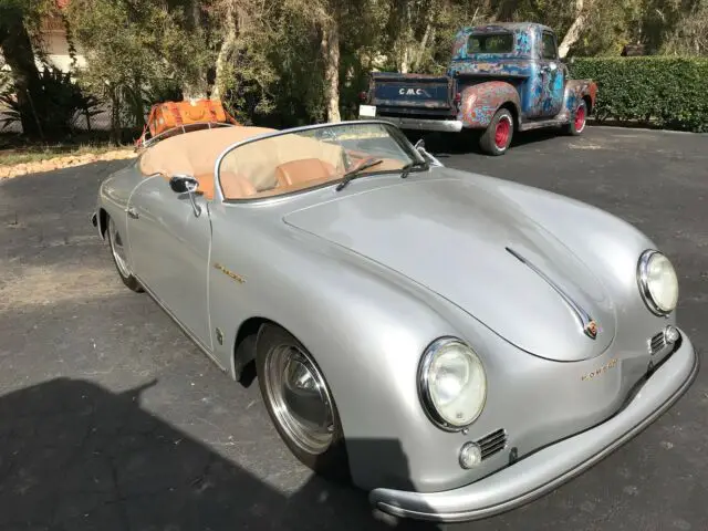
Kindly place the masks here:
<instances>
[{"instance_id":1,"label":"rusty, paint-worn rear fender of the old GMC pickup","mask_svg":"<svg viewBox=\"0 0 708 531\"><path fill-rule=\"evenodd\" d=\"M519 93L510 83L488 81L468 86L461 93L457 119L462 122L465 127L486 128L494 113L504 104L513 105L517 116L519 115Z\"/></svg>"}]
</instances>

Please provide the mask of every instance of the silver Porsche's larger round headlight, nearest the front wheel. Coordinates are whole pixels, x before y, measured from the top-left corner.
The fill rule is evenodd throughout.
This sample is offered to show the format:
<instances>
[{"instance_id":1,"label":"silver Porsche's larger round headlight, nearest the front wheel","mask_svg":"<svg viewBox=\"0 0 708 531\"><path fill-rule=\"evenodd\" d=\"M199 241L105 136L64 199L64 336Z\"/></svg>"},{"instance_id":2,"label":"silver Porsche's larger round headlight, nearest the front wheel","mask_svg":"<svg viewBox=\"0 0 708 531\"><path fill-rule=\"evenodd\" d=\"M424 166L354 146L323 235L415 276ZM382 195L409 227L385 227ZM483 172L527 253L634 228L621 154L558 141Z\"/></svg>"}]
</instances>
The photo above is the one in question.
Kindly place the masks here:
<instances>
[{"instance_id":1,"label":"silver Porsche's larger round headlight, nearest the front wheel","mask_svg":"<svg viewBox=\"0 0 708 531\"><path fill-rule=\"evenodd\" d=\"M460 340L441 337L428 346L418 379L426 413L442 429L462 429L485 407L485 367L475 351Z\"/></svg>"}]
</instances>

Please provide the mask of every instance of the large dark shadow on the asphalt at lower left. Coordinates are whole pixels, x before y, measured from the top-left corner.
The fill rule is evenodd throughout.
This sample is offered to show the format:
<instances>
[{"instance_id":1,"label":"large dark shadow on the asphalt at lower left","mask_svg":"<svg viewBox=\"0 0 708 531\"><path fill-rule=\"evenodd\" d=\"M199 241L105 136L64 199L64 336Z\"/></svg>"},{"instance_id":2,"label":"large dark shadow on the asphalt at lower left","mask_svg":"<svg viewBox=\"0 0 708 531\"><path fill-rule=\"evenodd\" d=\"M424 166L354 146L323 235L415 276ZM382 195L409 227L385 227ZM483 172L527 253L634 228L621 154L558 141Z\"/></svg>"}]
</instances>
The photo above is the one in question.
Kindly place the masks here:
<instances>
[{"instance_id":1,"label":"large dark shadow on the asphalt at lower left","mask_svg":"<svg viewBox=\"0 0 708 531\"><path fill-rule=\"evenodd\" d=\"M278 492L143 409L152 385L56 378L0 396L0 529L438 529L376 519L364 492L319 477ZM366 445L407 467L397 441Z\"/></svg>"}]
</instances>

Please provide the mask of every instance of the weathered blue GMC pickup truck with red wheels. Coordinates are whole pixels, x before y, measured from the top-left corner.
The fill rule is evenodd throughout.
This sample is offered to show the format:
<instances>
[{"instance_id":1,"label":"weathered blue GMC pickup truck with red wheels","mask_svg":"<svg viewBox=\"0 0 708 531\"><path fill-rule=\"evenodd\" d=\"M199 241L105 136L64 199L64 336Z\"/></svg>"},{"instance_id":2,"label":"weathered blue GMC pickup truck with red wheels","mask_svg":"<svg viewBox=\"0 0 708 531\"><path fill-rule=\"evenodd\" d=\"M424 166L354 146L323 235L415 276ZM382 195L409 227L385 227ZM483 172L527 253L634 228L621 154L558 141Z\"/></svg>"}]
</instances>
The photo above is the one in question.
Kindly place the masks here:
<instances>
[{"instance_id":1,"label":"weathered blue GMC pickup truck with red wheels","mask_svg":"<svg viewBox=\"0 0 708 531\"><path fill-rule=\"evenodd\" d=\"M569 79L551 28L498 23L458 31L446 75L373 72L358 114L403 129L479 129L481 149L502 155L516 131L580 135L596 94L593 81Z\"/></svg>"}]
</instances>

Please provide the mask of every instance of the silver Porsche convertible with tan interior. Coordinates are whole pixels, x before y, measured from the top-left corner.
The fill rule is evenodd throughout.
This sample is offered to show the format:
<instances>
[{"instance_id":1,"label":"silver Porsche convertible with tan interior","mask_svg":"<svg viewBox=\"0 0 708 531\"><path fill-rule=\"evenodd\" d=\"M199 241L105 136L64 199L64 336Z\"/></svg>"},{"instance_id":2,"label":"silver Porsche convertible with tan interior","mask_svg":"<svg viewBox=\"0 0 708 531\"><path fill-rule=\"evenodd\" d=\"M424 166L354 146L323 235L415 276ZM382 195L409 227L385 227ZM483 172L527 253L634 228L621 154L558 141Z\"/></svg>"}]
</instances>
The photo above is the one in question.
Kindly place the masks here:
<instances>
[{"instance_id":1,"label":"silver Porsche convertible with tan interior","mask_svg":"<svg viewBox=\"0 0 708 531\"><path fill-rule=\"evenodd\" d=\"M386 122L158 139L102 183L92 219L129 289L233 379L256 368L302 462L396 517L546 493L698 371L647 237L449 169Z\"/></svg>"}]
</instances>

